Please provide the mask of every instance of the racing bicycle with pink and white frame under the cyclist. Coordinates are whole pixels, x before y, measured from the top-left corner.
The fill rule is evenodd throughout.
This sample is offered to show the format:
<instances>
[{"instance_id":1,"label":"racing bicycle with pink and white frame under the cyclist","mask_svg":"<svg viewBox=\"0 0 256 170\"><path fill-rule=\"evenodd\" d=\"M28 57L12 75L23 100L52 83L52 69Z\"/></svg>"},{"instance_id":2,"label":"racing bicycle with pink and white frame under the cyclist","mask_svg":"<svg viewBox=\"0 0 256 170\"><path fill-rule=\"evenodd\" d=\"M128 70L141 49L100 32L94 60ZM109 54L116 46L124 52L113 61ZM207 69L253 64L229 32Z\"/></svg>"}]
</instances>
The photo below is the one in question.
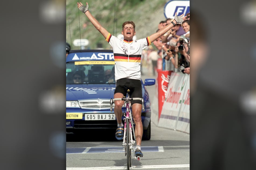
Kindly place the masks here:
<instances>
[{"instance_id":1,"label":"racing bicycle with pink and white frame under the cyclist","mask_svg":"<svg viewBox=\"0 0 256 170\"><path fill-rule=\"evenodd\" d=\"M110 112L113 111L112 105L113 102L116 100L123 100L124 101L124 106L126 106L126 112L125 112L125 108L124 108L124 138L123 138L123 142L122 142L122 146L125 147L125 156L127 156L127 169L129 170L129 168L131 167L131 150L133 151L133 157L136 158L137 160L141 160L141 157L135 157L135 151L134 151L134 144L136 142L136 138L135 138L135 132L134 132L134 125L133 125L133 121L132 121L132 112L131 112L131 100L139 100L142 101L142 110L144 111L144 99L143 98L130 98L130 94L129 94L130 90L127 90L127 97L123 97L123 98L114 98L114 99L110 99ZM133 136L132 136L133 134ZM134 139L132 138L134 137Z\"/></svg>"}]
</instances>

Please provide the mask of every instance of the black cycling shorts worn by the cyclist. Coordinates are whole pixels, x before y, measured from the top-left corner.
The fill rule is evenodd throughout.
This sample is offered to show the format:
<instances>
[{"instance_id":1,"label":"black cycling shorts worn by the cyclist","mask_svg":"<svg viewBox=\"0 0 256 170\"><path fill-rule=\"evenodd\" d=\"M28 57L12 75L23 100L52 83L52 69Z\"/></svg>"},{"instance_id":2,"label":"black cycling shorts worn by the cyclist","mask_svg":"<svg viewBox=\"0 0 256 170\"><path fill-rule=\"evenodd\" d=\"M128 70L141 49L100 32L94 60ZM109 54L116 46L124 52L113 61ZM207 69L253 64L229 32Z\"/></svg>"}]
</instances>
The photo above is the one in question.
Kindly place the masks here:
<instances>
[{"instance_id":1,"label":"black cycling shorts worn by the cyclist","mask_svg":"<svg viewBox=\"0 0 256 170\"><path fill-rule=\"evenodd\" d=\"M127 90L130 89L130 97L139 97L142 98L142 87L141 80L137 79L119 79L117 80L115 92L122 93L126 96ZM134 103L142 104L142 101L139 100L131 100L131 105Z\"/></svg>"}]
</instances>

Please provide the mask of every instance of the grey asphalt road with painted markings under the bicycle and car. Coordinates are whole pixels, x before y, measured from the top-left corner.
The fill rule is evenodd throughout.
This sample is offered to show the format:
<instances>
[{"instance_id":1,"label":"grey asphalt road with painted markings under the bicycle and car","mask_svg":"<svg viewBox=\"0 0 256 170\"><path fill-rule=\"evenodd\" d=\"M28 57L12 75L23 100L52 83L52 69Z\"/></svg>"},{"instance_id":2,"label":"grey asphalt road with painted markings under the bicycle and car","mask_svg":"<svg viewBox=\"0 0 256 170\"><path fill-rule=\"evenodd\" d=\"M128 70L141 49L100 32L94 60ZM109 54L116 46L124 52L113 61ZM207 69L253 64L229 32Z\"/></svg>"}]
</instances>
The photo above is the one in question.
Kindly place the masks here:
<instances>
[{"instance_id":1,"label":"grey asphalt road with painted markings under the bicycle and car","mask_svg":"<svg viewBox=\"0 0 256 170\"><path fill-rule=\"evenodd\" d=\"M154 78L152 74L142 76ZM146 86L153 101L155 86ZM66 135L66 169L127 169L122 142L113 131L90 131ZM151 123L151 139L142 141L142 160L131 160L130 169L190 169L189 134L156 127ZM133 154L133 153L132 153Z\"/></svg>"}]
</instances>

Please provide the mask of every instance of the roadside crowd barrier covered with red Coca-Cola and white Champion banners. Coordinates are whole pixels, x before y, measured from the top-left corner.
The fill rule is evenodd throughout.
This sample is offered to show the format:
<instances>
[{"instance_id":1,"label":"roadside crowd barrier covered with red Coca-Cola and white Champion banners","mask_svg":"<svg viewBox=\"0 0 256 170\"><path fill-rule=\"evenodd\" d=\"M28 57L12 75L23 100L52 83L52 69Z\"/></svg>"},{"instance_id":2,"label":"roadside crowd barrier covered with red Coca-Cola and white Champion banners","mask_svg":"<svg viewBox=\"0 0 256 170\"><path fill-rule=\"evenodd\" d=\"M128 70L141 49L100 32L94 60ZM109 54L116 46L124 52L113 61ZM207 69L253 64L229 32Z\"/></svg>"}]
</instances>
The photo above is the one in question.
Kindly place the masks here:
<instances>
[{"instance_id":1,"label":"roadside crowd barrier covered with red Coca-Cola and white Champion banners","mask_svg":"<svg viewBox=\"0 0 256 170\"><path fill-rule=\"evenodd\" d=\"M158 127L190 133L190 76L157 70L151 121Z\"/></svg>"}]
</instances>

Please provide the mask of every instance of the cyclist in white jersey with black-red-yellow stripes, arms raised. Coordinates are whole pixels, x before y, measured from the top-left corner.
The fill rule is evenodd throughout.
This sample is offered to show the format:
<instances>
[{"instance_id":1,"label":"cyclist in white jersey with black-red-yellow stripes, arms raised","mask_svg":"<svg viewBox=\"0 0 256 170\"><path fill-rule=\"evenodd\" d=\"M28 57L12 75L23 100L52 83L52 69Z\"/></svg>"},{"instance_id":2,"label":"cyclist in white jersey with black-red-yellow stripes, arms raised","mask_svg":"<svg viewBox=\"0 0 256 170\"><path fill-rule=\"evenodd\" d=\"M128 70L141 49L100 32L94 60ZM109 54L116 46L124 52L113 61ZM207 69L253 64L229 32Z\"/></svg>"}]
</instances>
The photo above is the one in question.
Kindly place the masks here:
<instances>
[{"instance_id":1,"label":"cyclist in white jersey with black-red-yellow stripes, arms raised","mask_svg":"<svg viewBox=\"0 0 256 170\"><path fill-rule=\"evenodd\" d=\"M116 88L114 92L114 98L122 98L126 96L127 89L130 89L130 97L142 98L142 87L141 87L141 54L142 50L149 46L160 36L163 36L169 31L176 23L182 22L185 18L184 14L177 16L175 14L174 20L160 29L158 32L134 41L135 36L135 24L133 21L126 21L122 24L121 34L124 39L118 39L111 35L101 24L92 16L88 10L88 3L84 6L81 2L77 2L77 7L88 17L93 26L104 36L106 41L112 46L115 60L115 81ZM117 119L117 130L115 137L121 140L124 132L124 125L122 124L122 106L124 101L115 101L114 113ZM135 123L135 138L136 148L135 156L142 157L141 152L141 140L143 134L143 126L141 121L141 101L131 101L132 115Z\"/></svg>"}]
</instances>

